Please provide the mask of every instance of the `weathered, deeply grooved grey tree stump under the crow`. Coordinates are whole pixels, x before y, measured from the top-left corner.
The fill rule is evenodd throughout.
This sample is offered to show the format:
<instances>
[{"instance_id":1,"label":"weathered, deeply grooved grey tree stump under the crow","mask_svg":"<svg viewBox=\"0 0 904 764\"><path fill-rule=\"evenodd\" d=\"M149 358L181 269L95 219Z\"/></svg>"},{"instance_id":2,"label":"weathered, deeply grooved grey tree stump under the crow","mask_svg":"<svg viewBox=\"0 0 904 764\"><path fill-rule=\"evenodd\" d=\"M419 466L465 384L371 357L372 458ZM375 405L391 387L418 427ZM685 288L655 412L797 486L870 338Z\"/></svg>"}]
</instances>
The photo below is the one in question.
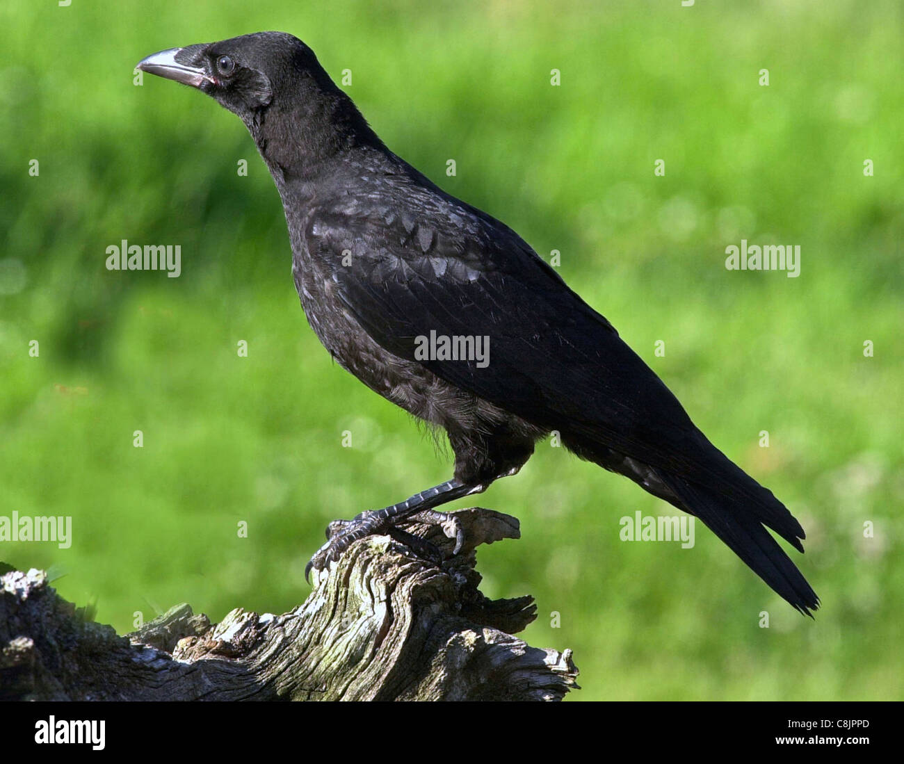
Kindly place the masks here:
<instances>
[{"instance_id":1,"label":"weathered, deeply grooved grey tree stump under the crow","mask_svg":"<svg viewBox=\"0 0 904 764\"><path fill-rule=\"evenodd\" d=\"M477 590L476 546L518 538L518 521L456 516L466 543L454 557L449 529L407 529L443 552L439 565L373 536L284 615L236 608L212 625L183 604L125 637L58 597L44 572L8 572L0 700L560 700L577 687L571 651L511 636L536 617L532 597Z\"/></svg>"}]
</instances>

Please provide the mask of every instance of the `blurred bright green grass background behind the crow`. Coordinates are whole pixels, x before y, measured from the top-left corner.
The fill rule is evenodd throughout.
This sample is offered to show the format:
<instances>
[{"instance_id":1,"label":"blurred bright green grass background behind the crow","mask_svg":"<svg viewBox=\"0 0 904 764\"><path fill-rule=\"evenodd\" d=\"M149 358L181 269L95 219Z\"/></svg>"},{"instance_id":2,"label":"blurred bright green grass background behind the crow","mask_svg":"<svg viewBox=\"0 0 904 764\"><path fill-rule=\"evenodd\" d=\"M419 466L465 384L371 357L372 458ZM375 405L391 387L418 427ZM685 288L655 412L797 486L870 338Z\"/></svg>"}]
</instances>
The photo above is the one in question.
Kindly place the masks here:
<instances>
[{"instance_id":1,"label":"blurred bright green grass background behind the crow","mask_svg":"<svg viewBox=\"0 0 904 764\"><path fill-rule=\"evenodd\" d=\"M120 632L181 601L278 613L306 598L329 520L449 476L307 327L240 121L133 84L150 52L278 29L334 79L353 72L394 151L559 250L570 285L805 526L792 553L815 622L702 525L692 550L621 542L620 517L672 508L541 444L479 497L523 538L478 570L488 596L536 596L523 637L574 649L572 697L904 698L902 16L896 0L0 6L0 514L73 523L70 549L5 542L0 560L55 566L61 595ZM180 244L182 276L108 271L122 239ZM726 270L741 239L800 244L800 277Z\"/></svg>"}]
</instances>

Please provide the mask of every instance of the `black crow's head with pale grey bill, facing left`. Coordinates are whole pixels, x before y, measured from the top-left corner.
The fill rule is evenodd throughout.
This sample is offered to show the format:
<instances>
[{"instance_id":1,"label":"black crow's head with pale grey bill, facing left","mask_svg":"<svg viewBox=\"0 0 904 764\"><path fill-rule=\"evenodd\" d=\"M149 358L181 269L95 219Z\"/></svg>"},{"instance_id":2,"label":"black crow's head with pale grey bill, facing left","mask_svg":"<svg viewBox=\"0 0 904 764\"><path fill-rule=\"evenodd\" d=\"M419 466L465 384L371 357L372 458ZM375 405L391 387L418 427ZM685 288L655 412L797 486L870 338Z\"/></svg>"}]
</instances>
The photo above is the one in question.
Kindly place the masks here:
<instances>
[{"instance_id":1,"label":"black crow's head with pale grey bill, facing left","mask_svg":"<svg viewBox=\"0 0 904 764\"><path fill-rule=\"evenodd\" d=\"M137 68L202 90L248 126L268 164L310 164L353 144L380 144L304 42L284 32L171 48Z\"/></svg>"}]
</instances>

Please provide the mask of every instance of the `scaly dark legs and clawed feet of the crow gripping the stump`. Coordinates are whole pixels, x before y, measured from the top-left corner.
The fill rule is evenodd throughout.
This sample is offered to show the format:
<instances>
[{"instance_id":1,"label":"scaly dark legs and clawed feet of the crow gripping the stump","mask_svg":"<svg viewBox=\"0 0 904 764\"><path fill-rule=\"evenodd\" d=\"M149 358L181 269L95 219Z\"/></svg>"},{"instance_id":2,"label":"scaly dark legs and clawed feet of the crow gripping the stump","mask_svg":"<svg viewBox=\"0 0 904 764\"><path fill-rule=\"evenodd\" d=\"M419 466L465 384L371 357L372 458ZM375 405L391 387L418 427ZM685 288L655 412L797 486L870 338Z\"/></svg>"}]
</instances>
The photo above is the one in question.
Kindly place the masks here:
<instances>
[{"instance_id":1,"label":"scaly dark legs and clawed feet of the crow gripping the stump","mask_svg":"<svg viewBox=\"0 0 904 764\"><path fill-rule=\"evenodd\" d=\"M306 565L305 579L307 580L311 568L321 571L330 562L338 560L352 542L374 533L386 533L389 528L394 528L397 523L410 518L412 514L423 513L423 517L419 519L427 522L447 522L449 515L439 512L427 512L427 510L455 501L462 496L479 494L485 488L486 486L483 485L469 485L456 479L448 480L439 486L433 486L426 491L421 491L400 504L384 506L382 509L375 509L371 512L363 512L356 515L353 520L334 520L326 529L328 541L317 550L314 557ZM393 535L396 538L410 538L410 533L405 532ZM461 549L463 542L464 533L459 526L456 534L456 552Z\"/></svg>"}]
</instances>

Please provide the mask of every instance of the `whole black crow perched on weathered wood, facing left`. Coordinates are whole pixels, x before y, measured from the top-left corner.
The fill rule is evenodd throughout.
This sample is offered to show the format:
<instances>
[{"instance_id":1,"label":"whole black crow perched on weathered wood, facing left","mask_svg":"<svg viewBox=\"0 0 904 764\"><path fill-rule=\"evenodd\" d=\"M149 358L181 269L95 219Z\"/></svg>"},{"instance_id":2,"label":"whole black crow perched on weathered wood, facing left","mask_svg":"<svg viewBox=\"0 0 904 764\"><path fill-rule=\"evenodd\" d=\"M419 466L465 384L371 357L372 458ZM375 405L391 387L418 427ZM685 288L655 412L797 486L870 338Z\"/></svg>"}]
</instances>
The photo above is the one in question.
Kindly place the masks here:
<instances>
[{"instance_id":1,"label":"whole black crow perched on weathered wood, facing left","mask_svg":"<svg viewBox=\"0 0 904 764\"><path fill-rule=\"evenodd\" d=\"M713 446L673 393L517 233L391 152L287 33L154 53L137 68L238 115L278 188L308 323L372 391L445 429L451 480L327 528L322 570L356 539L514 475L551 432L578 457L692 514L794 608L814 590L768 533L805 533ZM449 526L446 526L449 527ZM452 533L452 532L450 532ZM460 525L456 552L463 542Z\"/></svg>"}]
</instances>

